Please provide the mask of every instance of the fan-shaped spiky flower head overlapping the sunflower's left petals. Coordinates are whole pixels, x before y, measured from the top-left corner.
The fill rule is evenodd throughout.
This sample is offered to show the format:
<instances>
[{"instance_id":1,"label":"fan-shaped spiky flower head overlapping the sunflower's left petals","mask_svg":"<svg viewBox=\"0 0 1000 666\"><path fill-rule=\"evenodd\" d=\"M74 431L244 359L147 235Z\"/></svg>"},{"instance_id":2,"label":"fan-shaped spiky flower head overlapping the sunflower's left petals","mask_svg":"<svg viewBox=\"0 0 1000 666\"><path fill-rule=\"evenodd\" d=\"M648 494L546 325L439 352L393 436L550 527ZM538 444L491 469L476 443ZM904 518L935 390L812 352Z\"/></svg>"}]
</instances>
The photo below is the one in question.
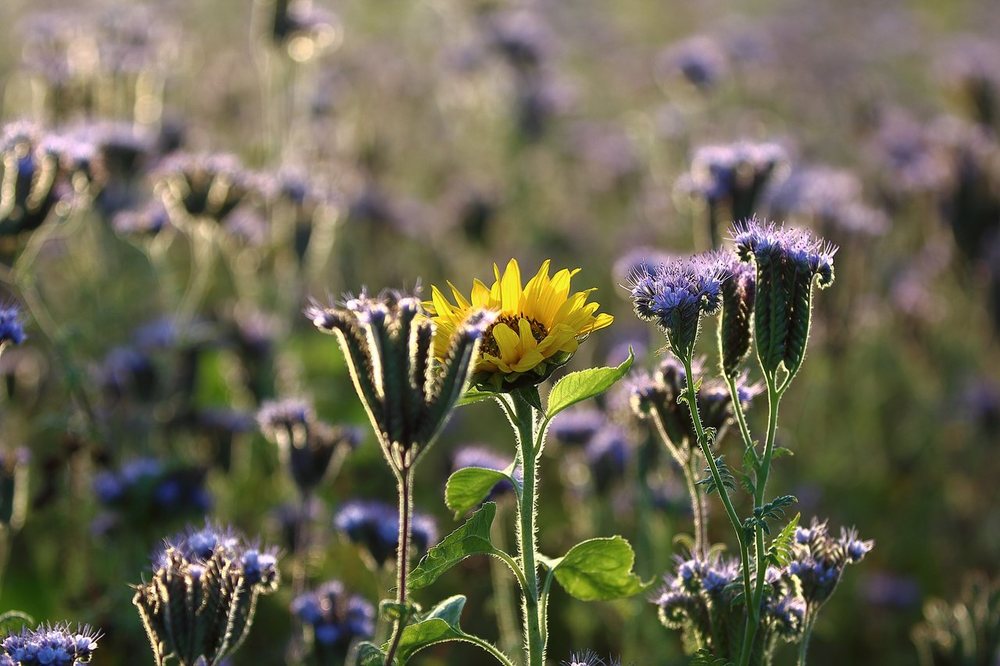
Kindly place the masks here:
<instances>
[{"instance_id":1,"label":"fan-shaped spiky flower head overlapping the sunflower's left petals","mask_svg":"<svg viewBox=\"0 0 1000 666\"><path fill-rule=\"evenodd\" d=\"M444 427L462 396L493 315L469 308L445 331L415 296L365 293L306 316L337 336L354 387L393 469L409 469Z\"/></svg>"}]
</instances>

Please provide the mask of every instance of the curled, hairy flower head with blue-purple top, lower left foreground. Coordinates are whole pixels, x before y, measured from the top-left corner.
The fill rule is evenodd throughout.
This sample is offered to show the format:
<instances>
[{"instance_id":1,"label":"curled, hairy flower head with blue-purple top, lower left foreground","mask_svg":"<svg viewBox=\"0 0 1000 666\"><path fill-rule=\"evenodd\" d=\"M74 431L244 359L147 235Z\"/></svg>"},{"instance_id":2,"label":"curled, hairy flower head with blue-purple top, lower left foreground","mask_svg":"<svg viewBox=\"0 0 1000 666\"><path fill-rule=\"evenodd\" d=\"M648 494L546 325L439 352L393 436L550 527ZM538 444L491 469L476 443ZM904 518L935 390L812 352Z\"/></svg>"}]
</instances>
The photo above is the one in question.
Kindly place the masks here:
<instances>
[{"instance_id":1,"label":"curled, hairy flower head with blue-purple top, lower left foreground","mask_svg":"<svg viewBox=\"0 0 1000 666\"><path fill-rule=\"evenodd\" d=\"M257 598L278 587L278 563L231 529L206 524L167 539L153 577L137 585L139 609L156 663L218 664L239 648Z\"/></svg>"}]
</instances>

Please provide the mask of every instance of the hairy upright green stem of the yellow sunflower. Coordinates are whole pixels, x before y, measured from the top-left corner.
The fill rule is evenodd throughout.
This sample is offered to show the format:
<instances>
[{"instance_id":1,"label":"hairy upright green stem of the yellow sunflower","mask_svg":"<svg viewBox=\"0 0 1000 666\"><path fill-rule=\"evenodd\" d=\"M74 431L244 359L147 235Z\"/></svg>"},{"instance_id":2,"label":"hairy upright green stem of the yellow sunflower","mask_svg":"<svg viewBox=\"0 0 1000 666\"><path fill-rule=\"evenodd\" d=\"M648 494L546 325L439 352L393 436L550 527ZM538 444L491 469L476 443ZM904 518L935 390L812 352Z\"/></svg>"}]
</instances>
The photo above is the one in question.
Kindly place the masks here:
<instances>
[{"instance_id":1,"label":"hairy upright green stem of the yellow sunflower","mask_svg":"<svg viewBox=\"0 0 1000 666\"><path fill-rule=\"evenodd\" d=\"M521 495L518 497L517 553L524 578L521 608L524 622L524 651L528 666L545 663L545 640L542 637L539 615L538 552L535 534L537 516L537 478L535 459L536 416L534 408L517 394L514 401L514 427L517 429L518 456L523 474Z\"/></svg>"}]
</instances>

